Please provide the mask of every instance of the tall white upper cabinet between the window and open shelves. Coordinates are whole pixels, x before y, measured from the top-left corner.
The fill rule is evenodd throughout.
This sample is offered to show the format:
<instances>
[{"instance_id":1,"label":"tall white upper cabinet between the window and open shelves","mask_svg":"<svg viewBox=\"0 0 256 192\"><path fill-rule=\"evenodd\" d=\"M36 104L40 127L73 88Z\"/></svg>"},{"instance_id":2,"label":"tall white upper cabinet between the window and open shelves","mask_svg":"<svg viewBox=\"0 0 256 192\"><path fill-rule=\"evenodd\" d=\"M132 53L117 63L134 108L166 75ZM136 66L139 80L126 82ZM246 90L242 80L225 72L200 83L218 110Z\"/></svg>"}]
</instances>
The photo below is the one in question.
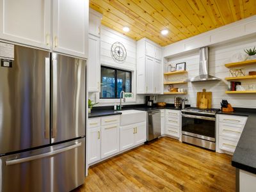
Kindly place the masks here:
<instances>
[{"instance_id":1,"label":"tall white upper cabinet between the window and open shelves","mask_svg":"<svg viewBox=\"0 0 256 192\"><path fill-rule=\"evenodd\" d=\"M137 93L161 94L163 64L162 49L146 38L138 41L137 47Z\"/></svg>"}]
</instances>

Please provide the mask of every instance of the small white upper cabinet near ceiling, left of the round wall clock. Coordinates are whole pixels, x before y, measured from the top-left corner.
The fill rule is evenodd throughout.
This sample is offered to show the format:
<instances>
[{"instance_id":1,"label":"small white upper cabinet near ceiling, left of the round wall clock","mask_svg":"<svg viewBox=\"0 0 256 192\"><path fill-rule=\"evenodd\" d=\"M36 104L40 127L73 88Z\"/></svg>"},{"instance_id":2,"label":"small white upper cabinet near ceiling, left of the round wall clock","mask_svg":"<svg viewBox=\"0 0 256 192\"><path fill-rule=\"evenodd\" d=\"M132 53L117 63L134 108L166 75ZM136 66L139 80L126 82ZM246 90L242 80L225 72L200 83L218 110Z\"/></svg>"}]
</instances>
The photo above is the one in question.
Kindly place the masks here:
<instances>
[{"instance_id":1,"label":"small white upper cabinet near ceiling, left of the round wall clock","mask_svg":"<svg viewBox=\"0 0 256 192\"><path fill-rule=\"evenodd\" d=\"M92 10L89 10L89 33L91 35L100 36L102 14Z\"/></svg>"}]
</instances>

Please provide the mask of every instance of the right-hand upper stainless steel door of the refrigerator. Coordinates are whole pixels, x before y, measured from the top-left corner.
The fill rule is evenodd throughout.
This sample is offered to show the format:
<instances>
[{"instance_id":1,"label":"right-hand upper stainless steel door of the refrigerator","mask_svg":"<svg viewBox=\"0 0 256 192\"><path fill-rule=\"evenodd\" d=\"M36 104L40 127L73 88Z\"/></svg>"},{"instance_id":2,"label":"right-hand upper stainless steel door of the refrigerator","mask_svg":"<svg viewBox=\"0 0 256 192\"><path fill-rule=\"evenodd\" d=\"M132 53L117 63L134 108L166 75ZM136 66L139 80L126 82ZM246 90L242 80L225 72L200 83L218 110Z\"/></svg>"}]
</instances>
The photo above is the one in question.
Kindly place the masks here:
<instances>
[{"instance_id":1,"label":"right-hand upper stainless steel door of the refrigerator","mask_svg":"<svg viewBox=\"0 0 256 192\"><path fill-rule=\"evenodd\" d=\"M52 143L85 134L86 62L52 53Z\"/></svg>"}]
</instances>

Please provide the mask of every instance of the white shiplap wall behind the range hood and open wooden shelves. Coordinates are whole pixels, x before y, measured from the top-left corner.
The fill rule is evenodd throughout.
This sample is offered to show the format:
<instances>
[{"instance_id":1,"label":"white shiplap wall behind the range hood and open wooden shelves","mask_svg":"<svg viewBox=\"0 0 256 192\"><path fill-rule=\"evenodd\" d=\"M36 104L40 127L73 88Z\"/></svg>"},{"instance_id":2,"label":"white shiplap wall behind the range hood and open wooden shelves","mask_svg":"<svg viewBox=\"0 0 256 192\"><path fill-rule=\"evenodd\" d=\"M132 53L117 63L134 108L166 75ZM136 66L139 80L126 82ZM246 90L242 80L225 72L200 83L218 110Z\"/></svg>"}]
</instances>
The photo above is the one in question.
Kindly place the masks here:
<instances>
[{"instance_id":1,"label":"white shiplap wall behind the range hood and open wooden shelves","mask_svg":"<svg viewBox=\"0 0 256 192\"><path fill-rule=\"evenodd\" d=\"M243 40L234 40L233 42L226 42L225 44L214 45L210 47L209 52L209 74L219 77L221 81L213 82L200 82L200 83L188 83L188 85L177 85L176 87L185 88L188 90L188 95L182 96L189 99L191 106L196 106L196 93L202 92L205 88L207 92L212 92L212 108L220 108L220 102L222 99L227 99L234 107L241 108L256 108L256 94L225 94L227 90L228 82L225 81L225 77L229 77L229 69L224 66L225 63L230 63L231 58L236 53L244 53L244 49L252 48L256 46L256 36L246 38ZM189 52L183 56L176 56L175 58L168 58L168 63L181 63L186 62L188 75L175 76L165 79L165 81L177 81L186 79L188 77L198 76L199 70L199 50ZM256 65L246 67L246 74L248 71L256 71ZM256 80L243 80L241 81L244 88L248 89L248 84L255 84ZM166 87L166 86L165 86ZM179 97L179 95L176 95ZM159 101L173 103L175 96L161 95Z\"/></svg>"}]
</instances>

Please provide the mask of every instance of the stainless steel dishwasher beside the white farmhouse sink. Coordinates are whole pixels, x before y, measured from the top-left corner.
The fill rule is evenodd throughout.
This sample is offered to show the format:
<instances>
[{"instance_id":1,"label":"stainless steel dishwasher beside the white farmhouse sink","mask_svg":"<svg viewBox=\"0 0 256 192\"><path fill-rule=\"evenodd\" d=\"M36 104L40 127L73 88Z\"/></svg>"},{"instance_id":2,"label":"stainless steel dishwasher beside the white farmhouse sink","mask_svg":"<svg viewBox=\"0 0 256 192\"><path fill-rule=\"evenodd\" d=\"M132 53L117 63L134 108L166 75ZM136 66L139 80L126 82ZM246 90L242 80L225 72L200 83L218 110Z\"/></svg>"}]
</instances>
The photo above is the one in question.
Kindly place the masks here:
<instances>
[{"instance_id":1,"label":"stainless steel dishwasher beside the white farmhouse sink","mask_svg":"<svg viewBox=\"0 0 256 192\"><path fill-rule=\"evenodd\" d=\"M148 111L147 113L147 141L151 141L161 135L161 111Z\"/></svg>"}]
</instances>

